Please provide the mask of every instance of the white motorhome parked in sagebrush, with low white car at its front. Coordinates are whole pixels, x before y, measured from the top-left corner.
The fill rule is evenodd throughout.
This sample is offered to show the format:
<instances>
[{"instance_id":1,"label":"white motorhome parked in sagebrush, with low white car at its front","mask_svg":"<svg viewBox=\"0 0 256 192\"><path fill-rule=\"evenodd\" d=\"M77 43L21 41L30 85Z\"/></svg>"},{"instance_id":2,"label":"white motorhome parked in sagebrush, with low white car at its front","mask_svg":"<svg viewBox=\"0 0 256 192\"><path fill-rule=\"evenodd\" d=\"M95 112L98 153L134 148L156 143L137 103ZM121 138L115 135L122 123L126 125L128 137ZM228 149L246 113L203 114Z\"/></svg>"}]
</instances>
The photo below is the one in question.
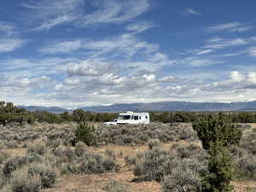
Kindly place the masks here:
<instances>
[{"instance_id":1,"label":"white motorhome parked in sagebrush, with low white car at its front","mask_svg":"<svg viewBox=\"0 0 256 192\"><path fill-rule=\"evenodd\" d=\"M149 124L149 122L149 113L127 111L126 113L119 113L117 119L113 119L112 122L106 122L104 125Z\"/></svg>"}]
</instances>

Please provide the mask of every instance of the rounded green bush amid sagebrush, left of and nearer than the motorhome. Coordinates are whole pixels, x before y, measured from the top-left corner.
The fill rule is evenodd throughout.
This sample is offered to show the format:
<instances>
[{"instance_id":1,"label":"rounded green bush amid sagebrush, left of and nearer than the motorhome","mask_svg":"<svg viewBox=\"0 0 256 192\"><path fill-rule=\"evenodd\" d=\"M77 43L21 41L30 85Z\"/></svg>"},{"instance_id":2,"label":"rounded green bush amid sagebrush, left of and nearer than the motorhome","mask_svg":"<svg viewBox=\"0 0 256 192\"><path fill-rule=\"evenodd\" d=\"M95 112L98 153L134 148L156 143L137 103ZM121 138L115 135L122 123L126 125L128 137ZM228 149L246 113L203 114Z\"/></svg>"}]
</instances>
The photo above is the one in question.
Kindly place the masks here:
<instances>
[{"instance_id":1,"label":"rounded green bush amid sagebrush, left of and nearer than the motorhome","mask_svg":"<svg viewBox=\"0 0 256 192\"><path fill-rule=\"evenodd\" d=\"M75 130L77 142L83 142L89 146L96 145L95 128L87 123L80 123Z\"/></svg>"}]
</instances>

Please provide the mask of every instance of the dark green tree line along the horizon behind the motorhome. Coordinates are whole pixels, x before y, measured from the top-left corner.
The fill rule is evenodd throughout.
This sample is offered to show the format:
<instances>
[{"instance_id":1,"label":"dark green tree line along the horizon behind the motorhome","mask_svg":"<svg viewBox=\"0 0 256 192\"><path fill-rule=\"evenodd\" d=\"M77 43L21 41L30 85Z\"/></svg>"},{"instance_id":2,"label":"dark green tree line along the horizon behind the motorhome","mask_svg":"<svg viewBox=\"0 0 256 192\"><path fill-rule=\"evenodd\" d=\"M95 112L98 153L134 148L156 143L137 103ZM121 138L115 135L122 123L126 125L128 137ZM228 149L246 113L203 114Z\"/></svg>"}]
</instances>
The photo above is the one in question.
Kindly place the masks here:
<instances>
[{"instance_id":1,"label":"dark green tree line along the horizon behind the motorhome","mask_svg":"<svg viewBox=\"0 0 256 192\"><path fill-rule=\"evenodd\" d=\"M191 123L201 116L219 112L149 112L150 120L162 123ZM229 116L232 123L256 123L256 112L222 112ZM106 122L117 118L118 113L92 113L76 109L73 113L49 113L46 111L28 111L25 108L15 107L12 102L0 102L0 125L9 123L33 124L39 123L65 123L65 122Z\"/></svg>"}]
</instances>

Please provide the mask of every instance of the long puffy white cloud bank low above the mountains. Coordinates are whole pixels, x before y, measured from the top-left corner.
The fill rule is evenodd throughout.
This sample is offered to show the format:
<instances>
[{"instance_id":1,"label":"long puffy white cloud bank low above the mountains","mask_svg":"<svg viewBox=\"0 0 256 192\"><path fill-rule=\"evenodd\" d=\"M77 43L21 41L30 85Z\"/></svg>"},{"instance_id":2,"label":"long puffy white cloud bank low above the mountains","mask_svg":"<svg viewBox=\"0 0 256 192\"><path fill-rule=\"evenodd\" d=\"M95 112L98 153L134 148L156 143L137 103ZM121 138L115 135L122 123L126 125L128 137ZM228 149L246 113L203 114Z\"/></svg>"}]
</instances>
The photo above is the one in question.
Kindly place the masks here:
<instances>
[{"instance_id":1,"label":"long puffy white cloud bank low above the mountains","mask_svg":"<svg viewBox=\"0 0 256 192\"><path fill-rule=\"evenodd\" d=\"M233 71L226 80L217 79L207 83L193 77L158 77L156 73L146 71L132 75L124 70L102 71L101 67L96 68L96 64L102 67L112 66L112 63L108 62L70 63L66 65L67 73L68 68L72 66L77 67L77 73L66 75L65 79L58 82L45 76L4 79L2 81L6 83L0 84L0 91L4 91L1 99L11 99L17 104L57 105L69 108L113 102L237 102L252 100L256 96L255 72L245 74ZM85 66L95 67L94 71ZM79 74L79 70L84 70L84 73ZM32 94L37 89L50 91ZM30 99L25 101L24 98Z\"/></svg>"}]
</instances>

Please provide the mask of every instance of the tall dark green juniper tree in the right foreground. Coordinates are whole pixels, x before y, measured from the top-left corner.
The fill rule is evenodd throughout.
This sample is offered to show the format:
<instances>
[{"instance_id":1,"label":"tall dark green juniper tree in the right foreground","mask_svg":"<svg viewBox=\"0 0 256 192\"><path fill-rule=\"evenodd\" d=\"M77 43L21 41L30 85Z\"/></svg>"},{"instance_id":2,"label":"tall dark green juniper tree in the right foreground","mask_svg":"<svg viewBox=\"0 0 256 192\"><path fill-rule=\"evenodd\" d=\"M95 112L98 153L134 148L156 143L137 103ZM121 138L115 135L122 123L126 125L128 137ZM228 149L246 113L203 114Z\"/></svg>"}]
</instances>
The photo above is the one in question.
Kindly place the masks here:
<instances>
[{"instance_id":1,"label":"tall dark green juniper tree in the right foreground","mask_svg":"<svg viewBox=\"0 0 256 192\"><path fill-rule=\"evenodd\" d=\"M230 145L239 143L241 131L222 113L205 115L193 123L203 148L207 151L207 170L201 172L202 192L230 192L235 166Z\"/></svg>"}]
</instances>

